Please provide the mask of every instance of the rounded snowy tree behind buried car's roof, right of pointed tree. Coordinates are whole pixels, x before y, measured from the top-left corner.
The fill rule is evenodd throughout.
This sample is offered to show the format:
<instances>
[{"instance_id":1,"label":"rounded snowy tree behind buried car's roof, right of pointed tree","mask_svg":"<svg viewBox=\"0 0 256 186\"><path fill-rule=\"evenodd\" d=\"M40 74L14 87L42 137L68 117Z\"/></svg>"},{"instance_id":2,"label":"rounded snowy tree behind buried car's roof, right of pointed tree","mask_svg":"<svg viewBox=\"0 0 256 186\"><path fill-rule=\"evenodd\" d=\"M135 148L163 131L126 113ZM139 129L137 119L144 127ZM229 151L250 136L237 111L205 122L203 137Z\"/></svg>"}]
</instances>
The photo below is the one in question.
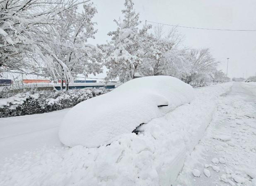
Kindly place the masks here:
<instances>
[{"instance_id":1,"label":"rounded snowy tree behind buried car's roof, right of pointed tree","mask_svg":"<svg viewBox=\"0 0 256 186\"><path fill-rule=\"evenodd\" d=\"M176 28L169 30L167 36L163 36L162 26L156 26L155 33L150 35L147 41L149 51L144 58L143 74L145 75L173 75L174 68L182 67L184 61L183 49L178 48L182 36Z\"/></svg>"}]
</instances>

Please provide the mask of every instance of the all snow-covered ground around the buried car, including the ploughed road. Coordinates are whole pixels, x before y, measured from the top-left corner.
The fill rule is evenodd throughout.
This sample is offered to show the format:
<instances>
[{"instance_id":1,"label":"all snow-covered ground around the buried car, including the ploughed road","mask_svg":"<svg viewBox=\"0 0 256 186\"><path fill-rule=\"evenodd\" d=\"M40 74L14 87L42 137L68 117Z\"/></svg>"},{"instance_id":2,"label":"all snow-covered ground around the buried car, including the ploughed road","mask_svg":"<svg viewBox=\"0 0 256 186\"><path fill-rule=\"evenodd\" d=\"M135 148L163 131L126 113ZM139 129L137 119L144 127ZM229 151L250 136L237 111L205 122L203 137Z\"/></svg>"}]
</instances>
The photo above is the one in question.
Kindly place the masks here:
<instances>
[{"instance_id":1,"label":"all snow-covered ground around the buried car, including the ploughed road","mask_svg":"<svg viewBox=\"0 0 256 186\"><path fill-rule=\"evenodd\" d=\"M212 185L215 181L214 178L218 181L220 173L213 172L209 167L210 177L203 177L202 166L204 164L213 165L211 160L214 157L223 156L222 159L225 160L225 164L221 164L221 166L220 163L217 164L220 167L220 172L222 172L222 166L229 165L229 162L230 164L238 162L241 165L247 163L250 164L247 167L255 170L256 158L253 158L253 155L256 156L256 136L253 133L255 128L252 127L255 124L254 96L256 93L254 90L256 86L252 83L234 83L230 89L231 86L232 83L225 83L196 88L196 98L190 104L181 105L164 117L152 119L142 125L139 135L125 134L111 145L99 148L85 148L81 145L69 148L60 143L58 126L68 110L1 118L0 185L170 185L174 184L186 158L186 165L176 182L181 185L205 185L204 181L208 181L207 183ZM230 90L231 92L225 94ZM217 104L219 105L218 110ZM238 115L233 117L232 114ZM213 131L216 132L215 136L219 135L219 137L215 137L216 139L210 137L215 134L213 132L204 136L205 129L213 115L215 116L214 120L207 131L209 133L211 128L215 129ZM230 133L228 128L222 129L223 126L220 124L225 123L226 120L229 123L234 122L236 117L241 118L241 121L237 119L241 123L240 125L232 123L235 127L229 127L232 130L236 129L236 131L232 131L235 132L232 137L233 133ZM217 125L219 126L216 127ZM227 132L224 132L224 129ZM218 134L220 131L224 132L227 138ZM240 134L248 135L236 139L235 136ZM197 145L202 136L205 140L201 140ZM229 138L232 139L229 140ZM236 146L230 146L228 142L223 142L223 139L228 140L230 144L235 143ZM215 145L210 143L211 141L221 144ZM203 157L201 155L203 151L200 150L203 149L202 143L208 143L208 151L205 148L205 152L208 154L206 153L204 156L212 155L210 159L208 158L209 161L205 159L205 163L203 163L204 159L199 158ZM238 143L243 145L241 149L237 145ZM195 146L196 149L193 151ZM200 146L202 147L200 148ZM246 146L245 149L244 146ZM215 148L218 149L216 150L216 153L219 153L217 155L214 151ZM228 148L231 149L227 151ZM241 155L236 151L233 152L232 148L240 149L238 153ZM246 150L249 152L247 153ZM228 156L220 155L226 151L230 153L227 153ZM242 153L246 153L248 157ZM237 157L229 159L231 155L237 155ZM217 169L217 166L214 169ZM236 167L239 168L238 165ZM195 179L191 172L193 168L200 171L201 177ZM230 165L228 168L232 169L233 167ZM194 172L198 174L198 171ZM207 171L206 174L208 174ZM243 178L242 175L236 175ZM251 184L248 177L244 179L246 179L246 183ZM218 181L217 184L219 183L221 182Z\"/></svg>"}]
</instances>

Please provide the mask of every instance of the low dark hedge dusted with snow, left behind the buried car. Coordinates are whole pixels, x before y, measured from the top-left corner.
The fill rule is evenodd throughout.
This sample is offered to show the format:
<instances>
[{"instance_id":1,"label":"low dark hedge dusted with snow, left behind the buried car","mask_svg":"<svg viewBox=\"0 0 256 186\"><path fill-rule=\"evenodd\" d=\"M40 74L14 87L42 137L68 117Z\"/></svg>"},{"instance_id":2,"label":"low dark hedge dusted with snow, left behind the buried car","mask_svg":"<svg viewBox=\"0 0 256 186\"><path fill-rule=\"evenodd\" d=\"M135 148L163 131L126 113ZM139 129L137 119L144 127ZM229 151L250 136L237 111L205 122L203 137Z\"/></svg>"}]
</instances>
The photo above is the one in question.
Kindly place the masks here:
<instances>
[{"instance_id":1,"label":"low dark hedge dusted with snow, left behind the buried car","mask_svg":"<svg viewBox=\"0 0 256 186\"><path fill-rule=\"evenodd\" d=\"M109 92L106 88L69 91L29 91L0 99L0 117L39 114L73 107L78 103Z\"/></svg>"}]
</instances>

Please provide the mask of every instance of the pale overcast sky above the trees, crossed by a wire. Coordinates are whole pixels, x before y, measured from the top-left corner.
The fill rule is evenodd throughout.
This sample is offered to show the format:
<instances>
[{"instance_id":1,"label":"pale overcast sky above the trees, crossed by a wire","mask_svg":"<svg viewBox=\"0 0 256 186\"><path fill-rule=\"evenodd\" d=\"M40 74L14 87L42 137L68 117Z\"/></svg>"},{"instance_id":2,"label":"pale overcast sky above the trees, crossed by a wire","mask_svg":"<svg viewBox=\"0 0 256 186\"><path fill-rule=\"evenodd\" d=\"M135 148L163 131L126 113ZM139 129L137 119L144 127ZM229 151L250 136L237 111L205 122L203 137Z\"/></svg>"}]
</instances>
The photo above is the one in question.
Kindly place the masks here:
<instances>
[{"instance_id":1,"label":"pale overcast sky above the trees, crossed by a wire","mask_svg":"<svg viewBox=\"0 0 256 186\"><path fill-rule=\"evenodd\" d=\"M106 34L116 29L114 19L122 18L124 0L93 0L97 7L94 21L98 33L92 44L111 39ZM256 0L134 0L140 20L215 29L256 30ZM152 24L154 26L154 24ZM165 26L167 27L167 26ZM191 48L210 48L221 61L220 69L228 76L244 77L256 73L256 32L209 31L179 28L184 45ZM99 77L99 76L98 76ZM102 77L102 75L100 75Z\"/></svg>"}]
</instances>

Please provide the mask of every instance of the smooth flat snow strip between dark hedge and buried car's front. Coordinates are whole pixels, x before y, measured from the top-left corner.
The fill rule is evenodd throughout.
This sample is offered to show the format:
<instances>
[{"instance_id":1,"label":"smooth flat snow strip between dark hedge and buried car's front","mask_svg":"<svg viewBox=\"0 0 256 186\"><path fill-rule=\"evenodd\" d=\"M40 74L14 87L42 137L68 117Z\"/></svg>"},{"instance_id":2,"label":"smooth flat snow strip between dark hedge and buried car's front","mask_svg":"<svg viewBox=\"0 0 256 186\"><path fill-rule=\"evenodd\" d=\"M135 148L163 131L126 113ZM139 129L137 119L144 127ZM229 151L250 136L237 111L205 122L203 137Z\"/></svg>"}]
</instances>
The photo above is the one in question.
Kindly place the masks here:
<instances>
[{"instance_id":1,"label":"smooth flat snow strip between dark hedge and buried car's front","mask_svg":"<svg viewBox=\"0 0 256 186\"><path fill-rule=\"evenodd\" d=\"M68 110L70 108L43 114L0 118L0 160L43 146L63 146L58 138L58 128Z\"/></svg>"}]
</instances>

